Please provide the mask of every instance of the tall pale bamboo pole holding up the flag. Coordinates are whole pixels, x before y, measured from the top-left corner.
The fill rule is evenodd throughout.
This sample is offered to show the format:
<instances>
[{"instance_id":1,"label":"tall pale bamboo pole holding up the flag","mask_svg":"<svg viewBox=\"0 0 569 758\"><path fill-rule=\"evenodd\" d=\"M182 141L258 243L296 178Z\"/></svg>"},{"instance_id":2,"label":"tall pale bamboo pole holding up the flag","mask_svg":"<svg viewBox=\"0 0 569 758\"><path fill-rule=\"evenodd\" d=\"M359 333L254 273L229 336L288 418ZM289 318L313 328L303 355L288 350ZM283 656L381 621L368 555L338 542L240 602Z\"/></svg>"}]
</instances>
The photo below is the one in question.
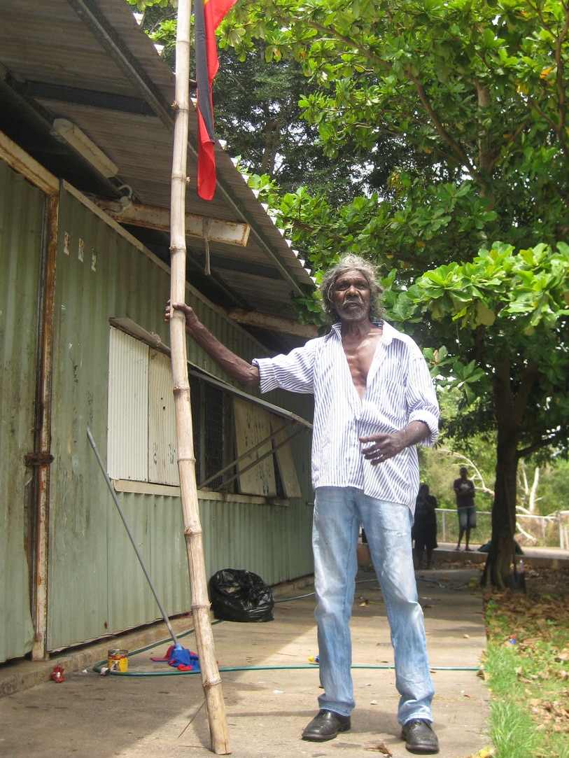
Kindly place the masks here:
<instances>
[{"instance_id":1,"label":"tall pale bamboo pole holding up the flag","mask_svg":"<svg viewBox=\"0 0 569 758\"><path fill-rule=\"evenodd\" d=\"M197 0L201 2L201 0ZM191 0L178 3L176 39L176 92L174 108L174 149L170 196L170 300L186 302L186 171L189 130L189 49ZM208 587L199 518L198 490L195 482L195 454L192 434L188 363L186 356L186 321L175 310L170 319L170 343L174 404L178 438L178 470L188 552L189 581L192 589L192 615L205 705L208 713L211 750L217 755L230 753L221 679L211 633Z\"/></svg>"}]
</instances>

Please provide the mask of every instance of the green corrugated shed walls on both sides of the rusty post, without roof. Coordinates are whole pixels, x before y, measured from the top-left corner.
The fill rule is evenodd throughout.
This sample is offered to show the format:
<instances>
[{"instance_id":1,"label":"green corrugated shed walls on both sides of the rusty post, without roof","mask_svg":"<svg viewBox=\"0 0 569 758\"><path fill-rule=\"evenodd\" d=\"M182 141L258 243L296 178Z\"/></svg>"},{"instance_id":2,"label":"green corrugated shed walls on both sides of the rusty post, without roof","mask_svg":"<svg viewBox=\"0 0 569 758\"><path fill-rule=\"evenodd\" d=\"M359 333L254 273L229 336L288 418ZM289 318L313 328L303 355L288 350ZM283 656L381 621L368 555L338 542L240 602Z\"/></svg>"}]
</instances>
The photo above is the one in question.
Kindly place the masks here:
<instances>
[{"instance_id":1,"label":"green corrugated shed walls on both sides of the rusty post, without roof","mask_svg":"<svg viewBox=\"0 0 569 758\"><path fill-rule=\"evenodd\" d=\"M11 434L2 424L0 443L2 450L8 447L8 454L2 456L2 479L11 483L6 490L10 503L21 504L27 500L26 476L28 484L31 481L23 458L28 448L33 449L42 196L5 163L0 167L3 186L11 187L11 192L2 195L8 217L4 229L11 230L10 235L2 233L2 265L11 271L2 279L6 282L2 343L5 356L8 349L13 351L5 359L2 403L3 419L14 419ZM18 208L26 208L27 218L22 218ZM27 230L20 240L14 240L11 219ZM55 270L47 650L160 618L86 430L91 429L105 456L111 321L128 319L164 343L168 339L162 317L169 288L167 268L120 227L109 224L102 211L69 186L61 192ZM14 297L14 292L23 293L23 299ZM207 314L214 332L225 331L230 344L239 344L242 355L261 354L255 340L191 288L189 298L199 303L197 308ZM20 333L25 339L15 339ZM195 365L204 363L195 346L189 358ZM15 366L21 381L14 382ZM4 391L10 386L14 387L12 395ZM302 412L306 399L291 399L289 409ZM309 412L309 408L304 411ZM16 430L20 444L9 449ZM310 439L309 435L300 439L293 446L293 454L302 481L302 498L290 500L284 507L252 496L207 493L200 500L208 575L228 566L249 568L275 584L311 572L311 509L307 506L311 495L306 463ZM20 472L18 478L14 470ZM179 497L121 493L120 500L165 609L170 615L186 612L191 596ZM5 540L3 554L17 558L13 562L20 570L14 577L5 565L2 572L0 600L6 610L2 618L14 619L16 612L19 617L17 628L11 624L5 630L6 641L14 642L17 637L16 646L6 648L5 658L23 655L32 646L27 525L23 522L26 511L8 507L7 501L8 497L2 503L8 518L3 536L11 534L12 538ZM12 578L9 584L8 577Z\"/></svg>"}]
</instances>

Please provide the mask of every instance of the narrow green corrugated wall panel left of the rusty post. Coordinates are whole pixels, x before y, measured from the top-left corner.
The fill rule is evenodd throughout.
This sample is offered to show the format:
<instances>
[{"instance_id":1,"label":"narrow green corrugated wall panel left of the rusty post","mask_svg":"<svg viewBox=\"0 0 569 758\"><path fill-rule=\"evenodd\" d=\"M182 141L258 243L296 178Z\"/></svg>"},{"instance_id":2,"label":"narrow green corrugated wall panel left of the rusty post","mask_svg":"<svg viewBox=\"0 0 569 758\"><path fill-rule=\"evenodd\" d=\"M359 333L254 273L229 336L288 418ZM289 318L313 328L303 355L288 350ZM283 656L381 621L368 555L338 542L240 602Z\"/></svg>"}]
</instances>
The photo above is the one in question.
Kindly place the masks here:
<instances>
[{"instance_id":1,"label":"narrow green corrugated wall panel left of the rusty post","mask_svg":"<svg viewBox=\"0 0 569 758\"><path fill-rule=\"evenodd\" d=\"M44 196L0 161L0 661L33 645L28 556Z\"/></svg>"}]
</instances>

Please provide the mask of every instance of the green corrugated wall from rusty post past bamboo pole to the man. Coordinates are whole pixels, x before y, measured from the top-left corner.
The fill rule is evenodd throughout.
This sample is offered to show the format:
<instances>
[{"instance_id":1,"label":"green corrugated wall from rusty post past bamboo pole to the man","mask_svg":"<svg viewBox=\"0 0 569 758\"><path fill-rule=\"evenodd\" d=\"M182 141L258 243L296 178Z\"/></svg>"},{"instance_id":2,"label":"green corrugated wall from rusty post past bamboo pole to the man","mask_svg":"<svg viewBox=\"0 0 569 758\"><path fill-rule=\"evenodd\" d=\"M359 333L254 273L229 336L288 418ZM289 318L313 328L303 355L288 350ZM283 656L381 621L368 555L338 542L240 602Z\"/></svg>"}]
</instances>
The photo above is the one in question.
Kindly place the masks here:
<instances>
[{"instance_id":1,"label":"green corrugated wall from rusty post past bamboo pole to the man","mask_svg":"<svg viewBox=\"0 0 569 758\"><path fill-rule=\"evenodd\" d=\"M130 318L168 343L164 268L71 193L60 206L57 262L48 648L56 650L160 618L142 569L86 437L92 431L106 460L109 318ZM199 315L245 358L255 343L194 295ZM195 346L189 360L217 368ZM286 396L306 415L307 399ZM283 397L271 397L279 402ZM308 400L308 402L310 402ZM281 402L284 405L284 403ZM299 440L299 437L296 438ZM311 500L302 435L293 454L303 498L289 507L249 502L200 503L208 576L218 568L249 568L275 584L311 572ZM123 493L123 512L168 613L189 609L190 591L180 500Z\"/></svg>"}]
</instances>

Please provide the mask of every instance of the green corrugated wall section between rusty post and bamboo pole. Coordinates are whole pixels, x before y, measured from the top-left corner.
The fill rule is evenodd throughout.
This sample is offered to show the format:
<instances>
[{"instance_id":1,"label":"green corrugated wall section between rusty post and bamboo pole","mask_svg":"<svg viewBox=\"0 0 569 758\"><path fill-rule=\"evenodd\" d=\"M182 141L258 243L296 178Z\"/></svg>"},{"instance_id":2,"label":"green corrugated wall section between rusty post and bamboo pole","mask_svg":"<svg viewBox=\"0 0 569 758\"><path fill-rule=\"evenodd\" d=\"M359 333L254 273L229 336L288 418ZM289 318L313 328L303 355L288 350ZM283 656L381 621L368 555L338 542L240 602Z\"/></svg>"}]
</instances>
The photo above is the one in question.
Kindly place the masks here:
<instances>
[{"instance_id":1,"label":"green corrugated wall section between rusty post and bamboo pole","mask_svg":"<svg viewBox=\"0 0 569 758\"><path fill-rule=\"evenodd\" d=\"M86 437L105 461L109 318L163 331L169 279L92 208L61 196L58 242L48 647L57 649L158 618L133 547ZM161 286L162 285L162 286ZM120 496L130 528L168 612L189 607L187 572L177 587L164 555L180 540L180 509L153 496ZM155 550L152 550L153 545ZM180 547L174 551L180 553ZM180 587L182 592L180 592Z\"/></svg>"}]
</instances>

